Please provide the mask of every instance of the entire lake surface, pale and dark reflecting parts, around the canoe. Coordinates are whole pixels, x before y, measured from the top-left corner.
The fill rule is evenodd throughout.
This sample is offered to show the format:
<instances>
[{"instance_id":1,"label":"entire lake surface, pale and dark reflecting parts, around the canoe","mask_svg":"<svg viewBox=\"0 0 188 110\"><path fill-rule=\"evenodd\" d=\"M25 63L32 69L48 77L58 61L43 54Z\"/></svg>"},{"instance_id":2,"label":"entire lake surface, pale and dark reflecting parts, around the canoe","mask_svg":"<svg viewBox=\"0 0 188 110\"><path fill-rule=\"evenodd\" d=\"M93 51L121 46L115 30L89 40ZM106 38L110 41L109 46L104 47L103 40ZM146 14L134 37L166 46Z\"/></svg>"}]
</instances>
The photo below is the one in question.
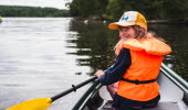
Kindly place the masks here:
<instances>
[{"instance_id":1,"label":"entire lake surface, pale and dark reflecting parts, around the canoe","mask_svg":"<svg viewBox=\"0 0 188 110\"><path fill-rule=\"evenodd\" d=\"M38 98L51 98L113 64L117 31L107 23L71 18L4 18L0 24L0 110ZM149 25L173 53L164 63L188 80L188 26ZM84 88L52 103L70 110Z\"/></svg>"}]
</instances>

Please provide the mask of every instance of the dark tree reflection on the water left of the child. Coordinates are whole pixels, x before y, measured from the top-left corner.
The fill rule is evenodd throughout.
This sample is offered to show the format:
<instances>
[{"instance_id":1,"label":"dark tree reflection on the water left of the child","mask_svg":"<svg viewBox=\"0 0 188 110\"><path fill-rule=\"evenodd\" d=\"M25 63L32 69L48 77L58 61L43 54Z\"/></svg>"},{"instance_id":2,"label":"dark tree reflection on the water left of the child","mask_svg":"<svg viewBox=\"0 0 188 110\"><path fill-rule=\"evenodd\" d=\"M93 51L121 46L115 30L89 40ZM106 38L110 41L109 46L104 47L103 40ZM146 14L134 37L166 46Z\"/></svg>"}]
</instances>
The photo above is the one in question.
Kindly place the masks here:
<instances>
[{"instance_id":1,"label":"dark tree reflection on the water left of the child","mask_svg":"<svg viewBox=\"0 0 188 110\"><path fill-rule=\"evenodd\" d=\"M115 37L117 36L115 31L109 31L106 24L83 24L81 22L72 22L71 30L77 31L79 37L67 42L76 43L77 51L67 54L88 56L87 58L79 58L77 65L92 67L92 73L97 69L106 69L112 65L112 59L115 57L113 47L118 41L118 37Z\"/></svg>"}]
</instances>

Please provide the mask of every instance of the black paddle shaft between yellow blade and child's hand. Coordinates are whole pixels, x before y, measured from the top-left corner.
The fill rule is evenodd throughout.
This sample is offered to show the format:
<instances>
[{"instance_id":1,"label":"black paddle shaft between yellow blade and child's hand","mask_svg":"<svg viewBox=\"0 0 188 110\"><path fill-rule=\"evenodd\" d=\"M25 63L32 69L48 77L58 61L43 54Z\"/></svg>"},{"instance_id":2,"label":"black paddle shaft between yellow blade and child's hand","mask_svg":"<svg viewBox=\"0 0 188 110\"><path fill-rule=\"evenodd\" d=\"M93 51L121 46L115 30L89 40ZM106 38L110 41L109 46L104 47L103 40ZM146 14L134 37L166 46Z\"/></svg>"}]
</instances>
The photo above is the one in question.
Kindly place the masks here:
<instances>
[{"instance_id":1,"label":"black paddle shaft between yellow blade and child's hand","mask_svg":"<svg viewBox=\"0 0 188 110\"><path fill-rule=\"evenodd\" d=\"M52 99L52 101L54 101L54 100L56 100L56 99L59 99L59 98L61 98L61 97L63 97L63 96L72 92L72 91L76 91L76 89L85 86L86 84L88 84L88 82L91 82L91 81L94 81L95 79L97 79L96 76L94 76L94 77L92 77L92 78L90 78L90 79L87 79L87 80L85 80L85 81L83 81L83 82L81 82L81 84L79 84L79 85L76 85L76 86L72 85L72 88L70 88L70 89L67 89L67 90L65 90L65 91L63 91L63 92L61 92L61 94L52 97L51 99Z\"/></svg>"}]
</instances>

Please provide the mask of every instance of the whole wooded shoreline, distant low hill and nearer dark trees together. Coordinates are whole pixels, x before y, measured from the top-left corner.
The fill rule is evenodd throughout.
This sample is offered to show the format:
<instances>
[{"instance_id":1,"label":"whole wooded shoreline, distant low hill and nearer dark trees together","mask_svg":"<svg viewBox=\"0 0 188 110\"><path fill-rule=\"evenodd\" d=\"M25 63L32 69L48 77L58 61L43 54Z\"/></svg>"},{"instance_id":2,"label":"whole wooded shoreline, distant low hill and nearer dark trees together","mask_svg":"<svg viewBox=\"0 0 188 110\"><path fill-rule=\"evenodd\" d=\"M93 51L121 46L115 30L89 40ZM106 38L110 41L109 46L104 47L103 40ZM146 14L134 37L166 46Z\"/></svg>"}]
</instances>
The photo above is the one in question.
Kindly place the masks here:
<instances>
[{"instance_id":1,"label":"whole wooded shoreline, distant low hill and nearer dark trees together","mask_svg":"<svg viewBox=\"0 0 188 110\"><path fill-rule=\"evenodd\" d=\"M147 20L188 20L188 0L72 0L70 10L0 6L1 16L80 16L116 21L125 11L138 11Z\"/></svg>"}]
</instances>

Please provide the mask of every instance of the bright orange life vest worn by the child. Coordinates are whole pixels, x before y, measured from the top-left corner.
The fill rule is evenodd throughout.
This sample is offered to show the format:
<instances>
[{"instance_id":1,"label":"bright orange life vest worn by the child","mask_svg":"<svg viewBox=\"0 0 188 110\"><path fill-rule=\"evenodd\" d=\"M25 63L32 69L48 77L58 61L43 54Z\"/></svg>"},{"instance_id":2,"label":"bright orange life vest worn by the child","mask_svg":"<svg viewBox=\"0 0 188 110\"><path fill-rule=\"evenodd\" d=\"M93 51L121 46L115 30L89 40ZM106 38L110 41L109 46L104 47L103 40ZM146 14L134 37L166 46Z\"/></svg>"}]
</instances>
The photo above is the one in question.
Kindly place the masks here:
<instances>
[{"instance_id":1,"label":"bright orange life vest worn by the child","mask_svg":"<svg viewBox=\"0 0 188 110\"><path fill-rule=\"evenodd\" d=\"M119 46L121 44L121 46ZM171 48L164 42L148 37L145 40L129 38L121 41L117 48L129 48L132 65L123 78L128 80L156 79L163 62L163 55L169 54ZM119 50L116 53L119 53ZM133 84L119 80L117 95L132 100L147 101L159 95L157 81L149 84Z\"/></svg>"}]
</instances>

